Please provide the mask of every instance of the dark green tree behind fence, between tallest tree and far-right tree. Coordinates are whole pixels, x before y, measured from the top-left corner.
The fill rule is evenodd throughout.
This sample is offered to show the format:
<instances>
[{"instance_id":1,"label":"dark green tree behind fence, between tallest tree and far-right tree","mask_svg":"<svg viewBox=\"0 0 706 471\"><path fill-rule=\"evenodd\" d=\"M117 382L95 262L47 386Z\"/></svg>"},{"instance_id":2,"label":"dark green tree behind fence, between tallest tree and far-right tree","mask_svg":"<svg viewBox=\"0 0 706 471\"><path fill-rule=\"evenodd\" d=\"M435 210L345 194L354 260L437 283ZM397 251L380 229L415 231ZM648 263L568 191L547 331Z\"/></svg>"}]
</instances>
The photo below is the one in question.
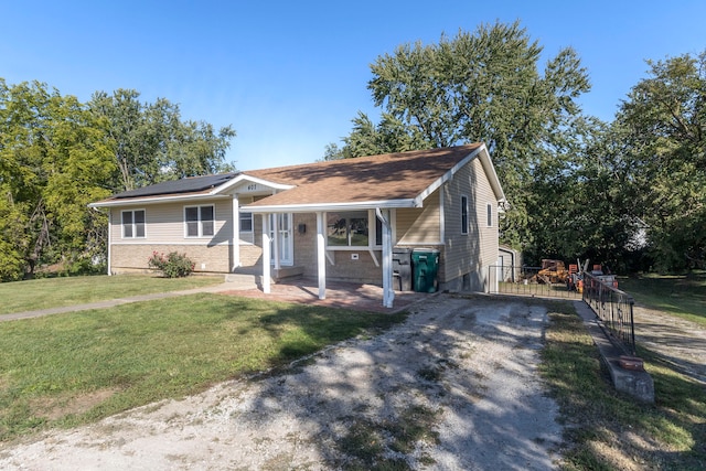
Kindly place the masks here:
<instances>
[{"instance_id":1,"label":"dark green tree behind fence, between tallest tree and far-right tree","mask_svg":"<svg viewBox=\"0 0 706 471\"><path fill-rule=\"evenodd\" d=\"M553 153L555 159L533 169L527 185L533 231L525 258L590 258L612 270L639 268L642 211L622 130L596 118L579 119Z\"/></svg>"}]
</instances>

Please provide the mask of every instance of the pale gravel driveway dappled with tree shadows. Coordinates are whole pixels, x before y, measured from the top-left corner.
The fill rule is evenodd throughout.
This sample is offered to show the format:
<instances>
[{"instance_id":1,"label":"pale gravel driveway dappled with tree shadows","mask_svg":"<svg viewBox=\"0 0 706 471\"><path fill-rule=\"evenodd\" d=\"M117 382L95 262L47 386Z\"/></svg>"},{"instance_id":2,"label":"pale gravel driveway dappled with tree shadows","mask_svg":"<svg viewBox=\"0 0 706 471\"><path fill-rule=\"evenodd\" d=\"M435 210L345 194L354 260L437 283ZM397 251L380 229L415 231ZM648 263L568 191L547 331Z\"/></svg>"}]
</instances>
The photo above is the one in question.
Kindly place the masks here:
<instances>
[{"instance_id":1,"label":"pale gravel driveway dappled with tree shadows","mask_svg":"<svg viewBox=\"0 0 706 471\"><path fill-rule=\"evenodd\" d=\"M536 372L546 310L439 295L411 312L284 374L6 446L0 469L555 468L561 428Z\"/></svg>"}]
</instances>

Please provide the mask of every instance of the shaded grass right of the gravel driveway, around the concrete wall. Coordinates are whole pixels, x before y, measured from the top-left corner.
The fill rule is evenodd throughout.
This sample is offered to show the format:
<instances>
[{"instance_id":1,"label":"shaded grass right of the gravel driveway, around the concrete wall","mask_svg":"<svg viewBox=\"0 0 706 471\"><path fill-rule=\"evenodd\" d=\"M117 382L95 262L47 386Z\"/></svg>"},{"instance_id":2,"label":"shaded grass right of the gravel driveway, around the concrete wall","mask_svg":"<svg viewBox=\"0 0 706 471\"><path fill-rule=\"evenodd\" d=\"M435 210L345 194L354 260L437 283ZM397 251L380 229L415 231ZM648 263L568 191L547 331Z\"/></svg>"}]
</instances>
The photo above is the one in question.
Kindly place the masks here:
<instances>
[{"instance_id":1,"label":"shaded grass right of the gravel driveway, around the concrete wall","mask_svg":"<svg viewBox=\"0 0 706 471\"><path fill-rule=\"evenodd\" d=\"M638 355L654 379L655 404L619 394L574 308L550 303L542 375L560 407L566 470L706 469L706 390L653 352Z\"/></svg>"}]
</instances>

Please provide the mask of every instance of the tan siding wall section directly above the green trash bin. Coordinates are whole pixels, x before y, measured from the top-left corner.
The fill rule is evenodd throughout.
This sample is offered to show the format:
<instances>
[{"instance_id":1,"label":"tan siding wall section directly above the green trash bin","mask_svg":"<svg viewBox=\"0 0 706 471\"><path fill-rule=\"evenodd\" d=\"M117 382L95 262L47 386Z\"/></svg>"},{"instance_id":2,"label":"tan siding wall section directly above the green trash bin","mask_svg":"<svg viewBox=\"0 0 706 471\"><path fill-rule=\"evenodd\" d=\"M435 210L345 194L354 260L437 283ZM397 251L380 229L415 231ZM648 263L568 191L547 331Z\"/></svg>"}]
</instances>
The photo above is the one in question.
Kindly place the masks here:
<instances>
[{"instance_id":1,"label":"tan siding wall section directly above the green trash bin","mask_svg":"<svg viewBox=\"0 0 706 471\"><path fill-rule=\"evenodd\" d=\"M395 231L397 244L425 245L441 242L441 208L440 191L431 193L425 201L424 207L399 208Z\"/></svg>"}]
</instances>

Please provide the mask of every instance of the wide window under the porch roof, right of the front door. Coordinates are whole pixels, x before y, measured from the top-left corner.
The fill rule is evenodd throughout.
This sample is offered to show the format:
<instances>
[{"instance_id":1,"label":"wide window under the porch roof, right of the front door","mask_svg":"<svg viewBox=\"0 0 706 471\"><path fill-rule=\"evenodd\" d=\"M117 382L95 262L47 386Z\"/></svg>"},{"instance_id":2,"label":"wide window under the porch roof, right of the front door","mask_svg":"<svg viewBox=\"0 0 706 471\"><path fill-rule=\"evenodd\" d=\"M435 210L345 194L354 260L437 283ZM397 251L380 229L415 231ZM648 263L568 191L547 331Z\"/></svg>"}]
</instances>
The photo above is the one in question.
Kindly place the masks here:
<instances>
[{"instance_id":1,"label":"wide window under the porch roof, right of the front door","mask_svg":"<svg viewBox=\"0 0 706 471\"><path fill-rule=\"evenodd\" d=\"M375 232L371 240L371 218L374 218ZM383 224L374 213L351 211L327 213L327 246L370 247L383 245Z\"/></svg>"}]
</instances>

